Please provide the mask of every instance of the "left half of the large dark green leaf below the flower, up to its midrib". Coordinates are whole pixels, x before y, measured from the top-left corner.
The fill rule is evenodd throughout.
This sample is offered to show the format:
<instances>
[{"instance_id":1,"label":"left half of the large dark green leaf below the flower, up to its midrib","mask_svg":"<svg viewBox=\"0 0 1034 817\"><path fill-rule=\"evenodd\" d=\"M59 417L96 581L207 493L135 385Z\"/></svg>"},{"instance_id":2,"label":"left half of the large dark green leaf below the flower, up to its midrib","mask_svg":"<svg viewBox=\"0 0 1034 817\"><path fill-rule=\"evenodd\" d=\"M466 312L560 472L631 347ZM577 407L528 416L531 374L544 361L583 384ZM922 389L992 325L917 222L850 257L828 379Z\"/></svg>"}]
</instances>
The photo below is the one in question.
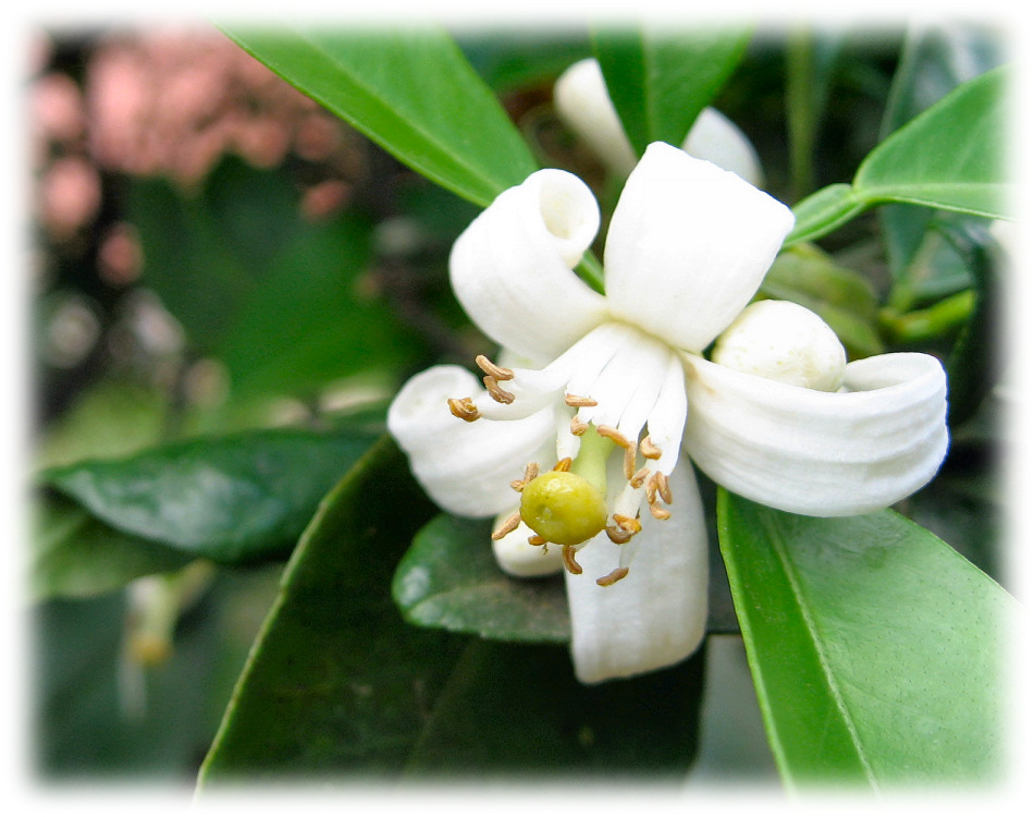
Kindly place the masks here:
<instances>
[{"instance_id":1,"label":"left half of the large dark green leaf below the flower, up to its midrib","mask_svg":"<svg viewBox=\"0 0 1034 817\"><path fill-rule=\"evenodd\" d=\"M432 512L406 473L384 439L321 504L201 767L202 789L402 770L459 647L407 625L391 599L395 564Z\"/></svg>"}]
</instances>

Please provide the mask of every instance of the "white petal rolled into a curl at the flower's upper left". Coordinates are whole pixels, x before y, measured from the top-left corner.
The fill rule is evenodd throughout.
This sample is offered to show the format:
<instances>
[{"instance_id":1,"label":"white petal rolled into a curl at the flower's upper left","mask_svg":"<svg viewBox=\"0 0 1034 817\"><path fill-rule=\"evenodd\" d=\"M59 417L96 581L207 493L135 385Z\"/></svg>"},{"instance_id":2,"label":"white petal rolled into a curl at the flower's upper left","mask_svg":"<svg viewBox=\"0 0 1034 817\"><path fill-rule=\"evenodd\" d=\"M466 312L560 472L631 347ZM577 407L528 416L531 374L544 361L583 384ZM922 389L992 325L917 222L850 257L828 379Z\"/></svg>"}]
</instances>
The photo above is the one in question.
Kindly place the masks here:
<instances>
[{"instance_id":1,"label":"white petal rolled into a curl at the flower's upper left","mask_svg":"<svg viewBox=\"0 0 1034 817\"><path fill-rule=\"evenodd\" d=\"M552 359L606 314L603 296L571 271L599 227L599 206L578 176L532 173L500 194L453 245L456 297L501 345Z\"/></svg>"}]
</instances>

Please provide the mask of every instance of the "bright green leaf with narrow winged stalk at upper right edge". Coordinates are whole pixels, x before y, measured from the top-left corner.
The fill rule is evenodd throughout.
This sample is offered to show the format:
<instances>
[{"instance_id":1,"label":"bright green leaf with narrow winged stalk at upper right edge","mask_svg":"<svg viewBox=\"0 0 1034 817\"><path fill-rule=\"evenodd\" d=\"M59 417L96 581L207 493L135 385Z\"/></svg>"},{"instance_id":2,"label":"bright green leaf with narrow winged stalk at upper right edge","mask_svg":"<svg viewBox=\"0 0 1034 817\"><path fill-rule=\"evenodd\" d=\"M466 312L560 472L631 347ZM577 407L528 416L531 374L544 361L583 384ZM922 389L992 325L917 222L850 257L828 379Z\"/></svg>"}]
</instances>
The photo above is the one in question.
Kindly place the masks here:
<instances>
[{"instance_id":1,"label":"bright green leaf with narrow winged stalk at upper right edge","mask_svg":"<svg viewBox=\"0 0 1034 817\"><path fill-rule=\"evenodd\" d=\"M890 202L1009 218L1006 81L1005 69L996 69L959 86L873 148L850 185L798 203L786 244L817 239Z\"/></svg>"}]
</instances>

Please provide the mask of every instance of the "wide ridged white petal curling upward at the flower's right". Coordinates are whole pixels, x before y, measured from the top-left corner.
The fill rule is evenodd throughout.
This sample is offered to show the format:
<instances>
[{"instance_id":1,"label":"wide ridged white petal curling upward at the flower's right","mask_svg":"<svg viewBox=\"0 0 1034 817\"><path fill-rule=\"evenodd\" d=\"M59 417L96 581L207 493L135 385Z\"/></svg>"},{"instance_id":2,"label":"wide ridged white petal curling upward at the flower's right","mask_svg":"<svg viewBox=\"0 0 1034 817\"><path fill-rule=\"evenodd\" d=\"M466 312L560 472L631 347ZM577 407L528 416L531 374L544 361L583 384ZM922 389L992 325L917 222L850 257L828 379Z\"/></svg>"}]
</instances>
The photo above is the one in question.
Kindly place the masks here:
<instances>
[{"instance_id":1,"label":"wide ridged white petal curling upward at the flower's right","mask_svg":"<svg viewBox=\"0 0 1034 817\"><path fill-rule=\"evenodd\" d=\"M946 379L930 355L847 366L823 392L692 358L682 444L729 490L792 513L847 516L924 486L948 447Z\"/></svg>"}]
</instances>

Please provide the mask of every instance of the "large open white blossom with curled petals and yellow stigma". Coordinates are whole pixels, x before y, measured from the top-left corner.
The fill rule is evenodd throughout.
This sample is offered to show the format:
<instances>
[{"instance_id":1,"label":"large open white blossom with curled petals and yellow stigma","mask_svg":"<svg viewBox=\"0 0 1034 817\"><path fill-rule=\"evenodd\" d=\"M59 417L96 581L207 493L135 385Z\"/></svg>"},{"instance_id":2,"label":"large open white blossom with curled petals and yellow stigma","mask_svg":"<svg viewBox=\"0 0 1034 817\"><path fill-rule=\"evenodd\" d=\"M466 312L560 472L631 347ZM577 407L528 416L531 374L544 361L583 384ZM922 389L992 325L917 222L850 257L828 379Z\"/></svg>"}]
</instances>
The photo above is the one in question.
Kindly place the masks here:
<instances>
[{"instance_id":1,"label":"large open white blossom with curled petals and yellow stigma","mask_svg":"<svg viewBox=\"0 0 1034 817\"><path fill-rule=\"evenodd\" d=\"M675 663L703 637L707 536L687 453L736 493L833 516L908 496L947 448L935 358L845 365L836 337L807 309L762 302L744 313L793 224L779 202L651 145L611 221L606 295L571 271L599 222L588 187L564 171L539 171L501 194L450 259L457 297L502 346L497 363L478 358L487 388L461 367L435 366L406 383L389 413L435 502L498 516L504 570L567 566L584 683ZM709 361L716 338L717 362ZM552 497L534 468L526 473L529 463L563 468L568 458L584 478L569 495ZM530 510L515 514L526 500ZM565 513L581 527L543 526ZM584 524L587 541L565 541L586 535Z\"/></svg>"}]
</instances>

